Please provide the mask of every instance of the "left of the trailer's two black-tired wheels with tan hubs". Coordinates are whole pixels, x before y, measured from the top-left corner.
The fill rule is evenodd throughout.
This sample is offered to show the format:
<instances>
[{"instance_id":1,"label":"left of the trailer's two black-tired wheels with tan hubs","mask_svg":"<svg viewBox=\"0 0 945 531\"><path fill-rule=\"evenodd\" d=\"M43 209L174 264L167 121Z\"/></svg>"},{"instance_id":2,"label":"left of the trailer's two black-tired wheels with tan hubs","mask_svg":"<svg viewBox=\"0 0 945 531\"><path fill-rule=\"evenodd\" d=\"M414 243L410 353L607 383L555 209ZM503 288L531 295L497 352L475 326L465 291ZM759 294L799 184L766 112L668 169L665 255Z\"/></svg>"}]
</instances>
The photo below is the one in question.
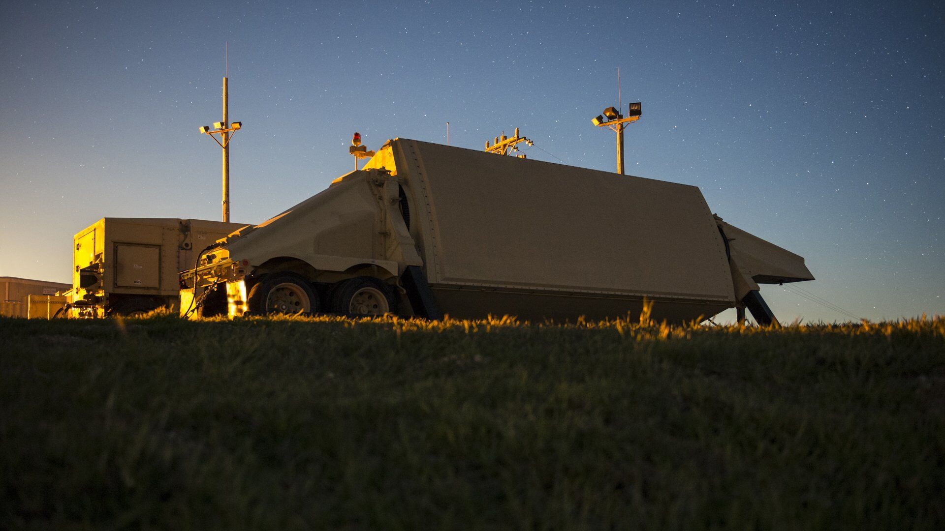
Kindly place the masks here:
<instances>
[{"instance_id":1,"label":"left of the trailer's two black-tired wheels with tan hubs","mask_svg":"<svg viewBox=\"0 0 945 531\"><path fill-rule=\"evenodd\" d=\"M320 309L318 293L312 289L312 284L291 271L268 273L253 284L249 289L247 308L253 316L311 315Z\"/></svg>"}]
</instances>

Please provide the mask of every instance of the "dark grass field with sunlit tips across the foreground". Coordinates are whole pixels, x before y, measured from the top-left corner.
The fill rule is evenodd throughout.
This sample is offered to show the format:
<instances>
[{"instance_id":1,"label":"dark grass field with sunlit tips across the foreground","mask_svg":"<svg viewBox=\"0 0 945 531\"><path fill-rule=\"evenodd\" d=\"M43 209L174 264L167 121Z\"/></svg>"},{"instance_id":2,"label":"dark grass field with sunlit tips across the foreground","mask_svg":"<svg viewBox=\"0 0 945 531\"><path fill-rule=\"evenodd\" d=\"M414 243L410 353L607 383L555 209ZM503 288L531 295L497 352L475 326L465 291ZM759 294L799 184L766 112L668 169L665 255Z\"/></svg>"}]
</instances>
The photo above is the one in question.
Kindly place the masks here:
<instances>
[{"instance_id":1,"label":"dark grass field with sunlit tips across the foreground","mask_svg":"<svg viewBox=\"0 0 945 531\"><path fill-rule=\"evenodd\" d=\"M3 529L942 529L945 319L0 318Z\"/></svg>"}]
</instances>

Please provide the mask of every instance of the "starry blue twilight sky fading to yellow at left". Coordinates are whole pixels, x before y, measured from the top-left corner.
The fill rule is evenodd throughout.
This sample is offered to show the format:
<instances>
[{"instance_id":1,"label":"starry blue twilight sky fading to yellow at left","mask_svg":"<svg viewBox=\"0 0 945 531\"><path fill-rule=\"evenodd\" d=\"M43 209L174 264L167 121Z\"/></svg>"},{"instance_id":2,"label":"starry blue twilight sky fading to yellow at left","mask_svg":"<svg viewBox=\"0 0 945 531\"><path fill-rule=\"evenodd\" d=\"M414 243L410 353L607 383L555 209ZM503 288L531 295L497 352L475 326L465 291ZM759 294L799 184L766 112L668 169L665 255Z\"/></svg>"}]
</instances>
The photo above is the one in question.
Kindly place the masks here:
<instances>
[{"instance_id":1,"label":"starry blue twilight sky fading to yellow at left","mask_svg":"<svg viewBox=\"0 0 945 531\"><path fill-rule=\"evenodd\" d=\"M232 220L255 223L393 137L612 171L591 118L642 101L628 173L694 184L817 280L782 320L945 315L940 3L4 2L0 275L69 282L103 216L219 218L229 42ZM843 310L799 295L799 286ZM787 287L787 286L785 286ZM846 313L844 313L846 312ZM730 312L723 315L729 317Z\"/></svg>"}]
</instances>

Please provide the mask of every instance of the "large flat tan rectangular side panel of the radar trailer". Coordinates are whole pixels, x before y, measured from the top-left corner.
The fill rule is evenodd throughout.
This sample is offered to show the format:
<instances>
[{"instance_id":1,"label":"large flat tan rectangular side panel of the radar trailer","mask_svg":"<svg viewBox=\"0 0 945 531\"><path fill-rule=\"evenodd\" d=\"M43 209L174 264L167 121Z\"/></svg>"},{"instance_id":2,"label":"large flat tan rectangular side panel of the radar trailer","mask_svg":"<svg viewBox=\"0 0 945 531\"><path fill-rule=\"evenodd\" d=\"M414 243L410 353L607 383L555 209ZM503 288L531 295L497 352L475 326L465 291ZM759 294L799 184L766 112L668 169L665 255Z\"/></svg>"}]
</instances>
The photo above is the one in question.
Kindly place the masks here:
<instances>
[{"instance_id":1,"label":"large flat tan rectangular side panel of the radar trailer","mask_svg":"<svg viewBox=\"0 0 945 531\"><path fill-rule=\"evenodd\" d=\"M724 243L694 186L394 142L427 214L431 283L733 300Z\"/></svg>"}]
</instances>

